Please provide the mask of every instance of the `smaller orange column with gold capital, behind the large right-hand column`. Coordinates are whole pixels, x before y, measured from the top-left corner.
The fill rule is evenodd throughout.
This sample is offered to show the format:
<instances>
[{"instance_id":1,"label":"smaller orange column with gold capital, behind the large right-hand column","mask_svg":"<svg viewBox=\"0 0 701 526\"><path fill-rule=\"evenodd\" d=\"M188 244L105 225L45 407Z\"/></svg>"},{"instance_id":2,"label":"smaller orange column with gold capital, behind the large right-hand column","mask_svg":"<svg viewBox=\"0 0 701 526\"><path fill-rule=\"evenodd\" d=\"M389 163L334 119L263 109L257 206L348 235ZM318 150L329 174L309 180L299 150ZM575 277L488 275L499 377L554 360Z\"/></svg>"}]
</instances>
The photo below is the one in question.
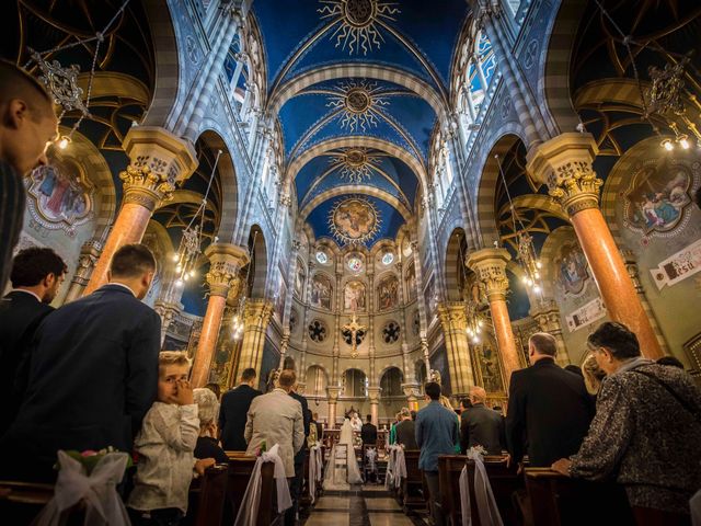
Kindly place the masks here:
<instances>
[{"instance_id":1,"label":"smaller orange column with gold capital, behind the large right-hand column","mask_svg":"<svg viewBox=\"0 0 701 526\"><path fill-rule=\"evenodd\" d=\"M506 291L508 290L506 263L510 259L512 256L506 249L482 249L468 254L466 262L485 286L494 334L504 363L507 384L512 380L512 373L522 367L506 308Z\"/></svg>"}]
</instances>

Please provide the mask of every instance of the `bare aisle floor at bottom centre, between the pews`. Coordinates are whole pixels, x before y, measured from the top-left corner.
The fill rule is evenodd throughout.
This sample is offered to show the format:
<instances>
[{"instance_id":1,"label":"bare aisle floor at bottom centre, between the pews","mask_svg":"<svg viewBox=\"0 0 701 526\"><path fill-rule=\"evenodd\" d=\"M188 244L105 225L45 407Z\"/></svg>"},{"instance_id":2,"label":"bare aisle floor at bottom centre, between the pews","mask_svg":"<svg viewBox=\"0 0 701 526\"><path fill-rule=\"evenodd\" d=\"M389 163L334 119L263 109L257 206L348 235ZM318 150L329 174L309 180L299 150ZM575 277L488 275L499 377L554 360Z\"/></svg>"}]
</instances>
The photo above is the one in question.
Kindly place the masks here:
<instances>
[{"instance_id":1,"label":"bare aisle floor at bottom centre, between the pews","mask_svg":"<svg viewBox=\"0 0 701 526\"><path fill-rule=\"evenodd\" d=\"M302 526L425 526L407 516L381 485L354 485L350 491L326 491Z\"/></svg>"}]
</instances>

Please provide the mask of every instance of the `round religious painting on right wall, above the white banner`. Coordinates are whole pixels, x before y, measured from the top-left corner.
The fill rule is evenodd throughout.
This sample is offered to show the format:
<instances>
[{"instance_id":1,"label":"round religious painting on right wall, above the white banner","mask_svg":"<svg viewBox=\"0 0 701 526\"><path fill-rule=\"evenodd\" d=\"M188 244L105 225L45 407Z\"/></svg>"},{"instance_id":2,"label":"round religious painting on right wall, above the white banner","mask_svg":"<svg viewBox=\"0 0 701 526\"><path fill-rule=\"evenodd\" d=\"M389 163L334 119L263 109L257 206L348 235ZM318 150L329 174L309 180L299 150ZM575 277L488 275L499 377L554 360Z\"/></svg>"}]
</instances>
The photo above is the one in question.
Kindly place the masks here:
<instances>
[{"instance_id":1,"label":"round religious painting on right wall, above the white banner","mask_svg":"<svg viewBox=\"0 0 701 526\"><path fill-rule=\"evenodd\" d=\"M683 208L691 203L692 179L686 165L674 161L644 164L633 175L625 193L625 224L645 235L674 229Z\"/></svg>"}]
</instances>

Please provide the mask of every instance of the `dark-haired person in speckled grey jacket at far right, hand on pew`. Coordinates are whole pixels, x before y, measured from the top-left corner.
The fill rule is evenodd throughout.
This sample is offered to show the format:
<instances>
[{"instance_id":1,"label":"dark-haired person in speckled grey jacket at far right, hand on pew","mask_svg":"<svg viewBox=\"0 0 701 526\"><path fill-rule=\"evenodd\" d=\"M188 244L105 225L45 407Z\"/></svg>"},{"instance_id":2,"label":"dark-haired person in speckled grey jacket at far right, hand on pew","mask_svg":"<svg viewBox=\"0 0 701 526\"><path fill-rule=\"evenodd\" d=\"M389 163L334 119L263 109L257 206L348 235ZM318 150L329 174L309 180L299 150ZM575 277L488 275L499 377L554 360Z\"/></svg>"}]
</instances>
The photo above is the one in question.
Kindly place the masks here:
<instances>
[{"instance_id":1,"label":"dark-haired person in speckled grey jacket at far right, hand on pew","mask_svg":"<svg viewBox=\"0 0 701 526\"><path fill-rule=\"evenodd\" d=\"M616 480L645 524L689 524L689 499L701 488L701 392L682 370L642 357L621 323L602 323L587 343L607 375L596 416L579 451L552 468Z\"/></svg>"}]
</instances>

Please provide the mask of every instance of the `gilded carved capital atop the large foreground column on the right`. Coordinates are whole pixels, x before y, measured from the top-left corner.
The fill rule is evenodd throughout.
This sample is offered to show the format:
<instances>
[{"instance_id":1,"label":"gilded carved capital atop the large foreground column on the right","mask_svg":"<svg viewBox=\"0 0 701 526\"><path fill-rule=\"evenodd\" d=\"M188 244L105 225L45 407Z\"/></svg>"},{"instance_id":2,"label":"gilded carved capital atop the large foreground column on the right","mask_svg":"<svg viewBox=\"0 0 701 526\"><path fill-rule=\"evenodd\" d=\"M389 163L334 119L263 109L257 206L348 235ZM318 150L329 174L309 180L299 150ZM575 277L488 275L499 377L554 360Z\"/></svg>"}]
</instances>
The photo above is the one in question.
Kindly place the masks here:
<instances>
[{"instance_id":1,"label":"gilded carved capital atop the large foreground column on the right","mask_svg":"<svg viewBox=\"0 0 701 526\"><path fill-rule=\"evenodd\" d=\"M548 185L568 216L599 206L599 187L591 163L598 147L591 134L566 133L528 152L528 173Z\"/></svg>"}]
</instances>

